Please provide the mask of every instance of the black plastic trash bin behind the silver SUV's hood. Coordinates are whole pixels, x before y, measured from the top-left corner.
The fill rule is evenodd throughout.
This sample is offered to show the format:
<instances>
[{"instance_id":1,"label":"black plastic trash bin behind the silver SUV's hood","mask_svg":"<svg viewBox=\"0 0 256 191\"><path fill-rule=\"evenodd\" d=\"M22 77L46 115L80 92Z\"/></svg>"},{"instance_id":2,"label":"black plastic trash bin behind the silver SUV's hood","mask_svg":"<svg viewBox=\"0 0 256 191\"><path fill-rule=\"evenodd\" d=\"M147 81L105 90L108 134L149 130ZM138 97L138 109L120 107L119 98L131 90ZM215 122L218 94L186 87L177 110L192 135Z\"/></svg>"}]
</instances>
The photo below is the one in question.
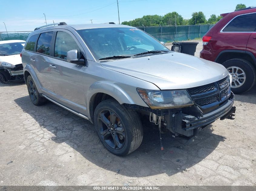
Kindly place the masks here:
<instances>
[{"instance_id":1,"label":"black plastic trash bin behind the silver SUV's hood","mask_svg":"<svg viewBox=\"0 0 256 191\"><path fill-rule=\"evenodd\" d=\"M197 42L177 42L172 43L171 50L179 53L195 56Z\"/></svg>"}]
</instances>

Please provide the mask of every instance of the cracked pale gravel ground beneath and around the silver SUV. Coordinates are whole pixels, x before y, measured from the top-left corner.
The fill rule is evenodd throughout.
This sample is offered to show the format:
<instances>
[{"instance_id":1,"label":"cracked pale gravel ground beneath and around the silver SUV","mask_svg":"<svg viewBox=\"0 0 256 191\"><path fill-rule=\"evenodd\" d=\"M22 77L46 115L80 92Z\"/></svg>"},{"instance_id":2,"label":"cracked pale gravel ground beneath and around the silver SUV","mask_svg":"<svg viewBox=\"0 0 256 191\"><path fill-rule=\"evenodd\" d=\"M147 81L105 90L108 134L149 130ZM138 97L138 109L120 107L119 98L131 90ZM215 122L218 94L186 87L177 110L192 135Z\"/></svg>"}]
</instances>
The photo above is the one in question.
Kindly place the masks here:
<instances>
[{"instance_id":1,"label":"cracked pale gravel ground beneath and around the silver SUV","mask_svg":"<svg viewBox=\"0 0 256 191\"><path fill-rule=\"evenodd\" d=\"M161 151L158 129L144 121L141 146L118 157L89 121L34 106L25 83L0 84L0 186L256 185L256 87L235 100L235 119L215 121L190 145L164 134Z\"/></svg>"}]
</instances>

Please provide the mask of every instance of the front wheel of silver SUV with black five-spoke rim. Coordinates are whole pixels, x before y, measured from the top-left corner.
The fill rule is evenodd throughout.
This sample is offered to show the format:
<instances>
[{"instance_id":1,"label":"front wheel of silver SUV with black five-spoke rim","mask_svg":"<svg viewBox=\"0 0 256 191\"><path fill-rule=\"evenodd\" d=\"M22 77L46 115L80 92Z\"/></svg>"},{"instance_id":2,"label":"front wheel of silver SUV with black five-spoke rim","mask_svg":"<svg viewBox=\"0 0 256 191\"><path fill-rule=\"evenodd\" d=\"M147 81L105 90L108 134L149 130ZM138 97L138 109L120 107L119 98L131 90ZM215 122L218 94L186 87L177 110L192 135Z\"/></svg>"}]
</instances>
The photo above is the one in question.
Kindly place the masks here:
<instances>
[{"instance_id":1,"label":"front wheel of silver SUV with black five-spoke rim","mask_svg":"<svg viewBox=\"0 0 256 191\"><path fill-rule=\"evenodd\" d=\"M138 113L125 110L115 100L98 104L94 124L102 144L115 155L125 156L141 145L143 129Z\"/></svg>"}]
</instances>

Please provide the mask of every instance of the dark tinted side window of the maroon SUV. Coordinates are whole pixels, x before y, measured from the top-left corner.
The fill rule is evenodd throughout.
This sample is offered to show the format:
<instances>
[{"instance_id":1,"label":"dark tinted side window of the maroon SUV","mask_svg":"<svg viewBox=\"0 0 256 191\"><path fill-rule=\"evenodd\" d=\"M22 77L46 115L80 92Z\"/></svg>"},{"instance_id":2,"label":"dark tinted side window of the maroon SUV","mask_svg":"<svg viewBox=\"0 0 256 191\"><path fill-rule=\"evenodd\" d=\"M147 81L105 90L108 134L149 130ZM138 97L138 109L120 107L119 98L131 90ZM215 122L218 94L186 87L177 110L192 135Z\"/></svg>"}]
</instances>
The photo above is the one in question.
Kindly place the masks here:
<instances>
[{"instance_id":1,"label":"dark tinted side window of the maroon SUV","mask_svg":"<svg viewBox=\"0 0 256 191\"><path fill-rule=\"evenodd\" d=\"M256 28L256 13L244 14L234 18L223 32L253 32Z\"/></svg>"}]
</instances>

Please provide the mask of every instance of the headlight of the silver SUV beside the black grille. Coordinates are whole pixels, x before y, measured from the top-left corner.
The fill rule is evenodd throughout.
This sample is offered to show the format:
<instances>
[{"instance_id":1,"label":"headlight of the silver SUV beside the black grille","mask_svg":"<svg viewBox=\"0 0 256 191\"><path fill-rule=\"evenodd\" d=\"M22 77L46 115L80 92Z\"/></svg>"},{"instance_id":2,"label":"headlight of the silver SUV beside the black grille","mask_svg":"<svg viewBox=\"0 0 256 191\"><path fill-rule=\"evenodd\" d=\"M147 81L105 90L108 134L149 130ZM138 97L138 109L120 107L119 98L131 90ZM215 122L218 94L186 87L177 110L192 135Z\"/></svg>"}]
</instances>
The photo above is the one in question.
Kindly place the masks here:
<instances>
[{"instance_id":1,"label":"headlight of the silver SUV beside the black grille","mask_svg":"<svg viewBox=\"0 0 256 191\"><path fill-rule=\"evenodd\" d=\"M194 105L186 90L155 91L137 88L137 91L151 109L170 109Z\"/></svg>"}]
</instances>

